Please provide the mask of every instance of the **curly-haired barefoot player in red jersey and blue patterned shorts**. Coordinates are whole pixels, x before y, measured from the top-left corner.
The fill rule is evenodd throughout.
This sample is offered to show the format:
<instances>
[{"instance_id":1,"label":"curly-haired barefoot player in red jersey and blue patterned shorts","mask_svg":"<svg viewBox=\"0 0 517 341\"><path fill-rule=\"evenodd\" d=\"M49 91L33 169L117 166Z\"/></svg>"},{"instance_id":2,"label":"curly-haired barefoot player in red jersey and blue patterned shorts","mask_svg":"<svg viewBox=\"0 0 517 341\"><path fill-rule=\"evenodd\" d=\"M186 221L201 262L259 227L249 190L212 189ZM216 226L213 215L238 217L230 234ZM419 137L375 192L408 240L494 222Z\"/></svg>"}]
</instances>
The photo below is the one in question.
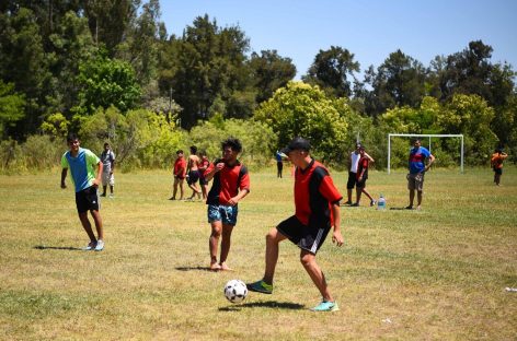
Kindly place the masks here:
<instances>
[{"instance_id":1,"label":"curly-haired barefoot player in red jersey and blue patterned shorts","mask_svg":"<svg viewBox=\"0 0 517 341\"><path fill-rule=\"evenodd\" d=\"M242 151L238 139L230 138L221 143L222 158L216 160L205 170L205 180L214 179L206 203L208 204L208 223L211 226L209 238L210 269L231 270L226 263L230 252L231 233L237 224L238 203L250 192L248 168L237 156ZM217 261L219 239L221 254Z\"/></svg>"}]
</instances>

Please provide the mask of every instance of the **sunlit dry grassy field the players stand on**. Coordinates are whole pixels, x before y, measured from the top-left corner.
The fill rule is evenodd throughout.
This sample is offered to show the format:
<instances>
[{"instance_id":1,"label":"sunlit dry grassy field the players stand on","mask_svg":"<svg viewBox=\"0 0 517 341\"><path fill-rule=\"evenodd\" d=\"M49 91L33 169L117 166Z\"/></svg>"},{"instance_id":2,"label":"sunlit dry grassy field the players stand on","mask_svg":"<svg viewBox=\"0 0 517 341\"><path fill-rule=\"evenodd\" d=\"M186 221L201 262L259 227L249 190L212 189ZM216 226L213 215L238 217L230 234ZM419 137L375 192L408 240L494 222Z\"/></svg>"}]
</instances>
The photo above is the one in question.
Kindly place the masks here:
<instances>
[{"instance_id":1,"label":"sunlit dry grassy field the players stand on","mask_svg":"<svg viewBox=\"0 0 517 341\"><path fill-rule=\"evenodd\" d=\"M334 179L345 193L345 174ZM345 245L318 260L341 310L320 297L298 249L280 246L273 295L226 301L230 279L257 280L264 236L292 213L292 179L252 173L229 264L207 271L203 202L171 202L166 172L116 174L102 201L106 248L81 251L73 191L54 174L0 176L3 340L516 340L517 169L436 169L422 211L342 208ZM405 173L372 172L388 208L407 204Z\"/></svg>"}]
</instances>

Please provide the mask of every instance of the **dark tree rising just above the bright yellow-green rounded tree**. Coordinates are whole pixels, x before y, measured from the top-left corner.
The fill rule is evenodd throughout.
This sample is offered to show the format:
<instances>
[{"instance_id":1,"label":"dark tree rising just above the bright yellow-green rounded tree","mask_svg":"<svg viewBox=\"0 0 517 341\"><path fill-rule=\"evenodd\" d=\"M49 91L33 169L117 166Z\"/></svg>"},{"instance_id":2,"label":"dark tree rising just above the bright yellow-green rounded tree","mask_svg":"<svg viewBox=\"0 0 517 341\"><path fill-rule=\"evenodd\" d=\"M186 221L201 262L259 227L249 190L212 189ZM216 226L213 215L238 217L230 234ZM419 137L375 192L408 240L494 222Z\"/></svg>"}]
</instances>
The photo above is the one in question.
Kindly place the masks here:
<instances>
[{"instance_id":1,"label":"dark tree rising just above the bright yellow-green rounded tree","mask_svg":"<svg viewBox=\"0 0 517 341\"><path fill-rule=\"evenodd\" d=\"M349 97L352 80L355 80L354 73L359 72L359 67L360 64L354 61L354 54L346 48L331 46L329 50L318 52L302 80L319 85L336 97Z\"/></svg>"}]
</instances>

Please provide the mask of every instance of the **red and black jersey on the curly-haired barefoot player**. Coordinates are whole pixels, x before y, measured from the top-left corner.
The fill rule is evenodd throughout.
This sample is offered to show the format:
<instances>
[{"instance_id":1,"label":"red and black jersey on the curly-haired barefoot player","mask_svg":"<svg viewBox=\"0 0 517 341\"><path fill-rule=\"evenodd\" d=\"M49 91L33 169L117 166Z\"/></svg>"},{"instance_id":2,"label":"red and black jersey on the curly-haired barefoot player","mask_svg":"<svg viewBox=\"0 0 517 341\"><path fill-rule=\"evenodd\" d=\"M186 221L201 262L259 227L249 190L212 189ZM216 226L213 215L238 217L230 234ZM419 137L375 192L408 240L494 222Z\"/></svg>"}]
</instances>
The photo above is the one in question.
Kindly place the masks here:
<instances>
[{"instance_id":1,"label":"red and black jersey on the curly-haired barefoot player","mask_svg":"<svg viewBox=\"0 0 517 341\"><path fill-rule=\"evenodd\" d=\"M223 162L216 160L205 170L205 177L214 167ZM250 191L250 176L248 168L239 161L233 166L225 164L225 167L214 175L214 181L206 200L207 204L228 204L228 200L239 193L240 190Z\"/></svg>"}]
</instances>

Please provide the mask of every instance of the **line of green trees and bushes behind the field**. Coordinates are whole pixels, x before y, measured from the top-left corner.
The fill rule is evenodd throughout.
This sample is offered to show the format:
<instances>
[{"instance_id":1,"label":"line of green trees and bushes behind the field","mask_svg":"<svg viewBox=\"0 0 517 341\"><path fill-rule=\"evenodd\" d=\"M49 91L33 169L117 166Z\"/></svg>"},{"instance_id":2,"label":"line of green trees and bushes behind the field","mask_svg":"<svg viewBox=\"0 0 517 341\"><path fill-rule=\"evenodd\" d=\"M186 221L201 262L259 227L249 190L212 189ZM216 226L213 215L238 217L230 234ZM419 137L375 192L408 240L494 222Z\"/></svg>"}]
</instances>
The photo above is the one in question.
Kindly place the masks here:
<instances>
[{"instance_id":1,"label":"line of green trees and bushes behind the field","mask_svg":"<svg viewBox=\"0 0 517 341\"><path fill-rule=\"evenodd\" d=\"M294 82L292 60L252 51L237 25L205 14L169 35L158 0L2 1L0 153L5 168L76 131L95 146L112 141L128 167L166 166L175 149L217 152L203 137L231 132L261 163L303 134L341 164L357 137L382 160L388 132L463 133L467 163L484 164L495 146L517 151L516 72L492 52L474 40L424 66L398 49L361 72L331 46ZM457 144L436 142L443 165L457 162Z\"/></svg>"}]
</instances>

